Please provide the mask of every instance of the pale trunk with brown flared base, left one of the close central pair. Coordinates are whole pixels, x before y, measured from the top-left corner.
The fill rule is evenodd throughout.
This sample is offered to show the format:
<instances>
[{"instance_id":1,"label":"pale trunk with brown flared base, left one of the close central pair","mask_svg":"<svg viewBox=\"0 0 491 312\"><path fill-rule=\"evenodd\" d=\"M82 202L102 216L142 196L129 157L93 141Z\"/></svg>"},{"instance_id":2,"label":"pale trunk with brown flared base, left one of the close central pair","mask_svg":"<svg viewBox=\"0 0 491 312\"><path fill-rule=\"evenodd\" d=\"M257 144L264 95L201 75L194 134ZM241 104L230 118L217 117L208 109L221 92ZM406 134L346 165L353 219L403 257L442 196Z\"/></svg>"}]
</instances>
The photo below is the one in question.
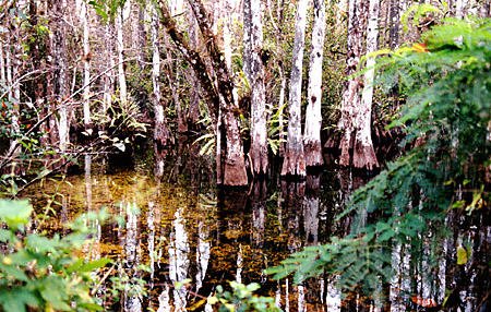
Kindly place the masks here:
<instances>
[{"instance_id":1,"label":"pale trunk with brown flared base, left one of the close central pair","mask_svg":"<svg viewBox=\"0 0 491 312\"><path fill-rule=\"evenodd\" d=\"M301 129L302 64L306 45L306 24L308 0L299 0L295 23L295 43L290 75L290 94L288 103L288 139L283 161L282 176L306 176Z\"/></svg>"}]
</instances>

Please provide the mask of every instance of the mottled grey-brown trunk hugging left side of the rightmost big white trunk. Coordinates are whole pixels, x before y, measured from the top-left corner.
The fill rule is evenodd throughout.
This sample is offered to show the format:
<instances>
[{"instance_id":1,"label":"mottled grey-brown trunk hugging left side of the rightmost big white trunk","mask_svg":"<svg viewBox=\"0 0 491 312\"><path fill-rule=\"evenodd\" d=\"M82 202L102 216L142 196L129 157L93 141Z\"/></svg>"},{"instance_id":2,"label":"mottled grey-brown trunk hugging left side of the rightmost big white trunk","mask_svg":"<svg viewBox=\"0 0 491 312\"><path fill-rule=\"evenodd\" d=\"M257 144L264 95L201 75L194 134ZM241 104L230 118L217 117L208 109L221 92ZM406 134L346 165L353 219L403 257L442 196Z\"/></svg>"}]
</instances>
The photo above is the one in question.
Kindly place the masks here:
<instances>
[{"instance_id":1,"label":"mottled grey-brown trunk hugging left side of the rightmost big white trunk","mask_svg":"<svg viewBox=\"0 0 491 312\"><path fill-rule=\"evenodd\" d=\"M363 49L363 33L366 28L366 8L364 1L349 0L348 5L348 53L346 59L347 70L346 74L352 75L358 68L360 57ZM351 77L343 93L342 101L342 117L339 120L339 129L343 131L339 149L340 166L349 166L352 149L354 136L356 134L358 124L358 113L360 108L360 86L362 85L361 77Z\"/></svg>"}]
</instances>

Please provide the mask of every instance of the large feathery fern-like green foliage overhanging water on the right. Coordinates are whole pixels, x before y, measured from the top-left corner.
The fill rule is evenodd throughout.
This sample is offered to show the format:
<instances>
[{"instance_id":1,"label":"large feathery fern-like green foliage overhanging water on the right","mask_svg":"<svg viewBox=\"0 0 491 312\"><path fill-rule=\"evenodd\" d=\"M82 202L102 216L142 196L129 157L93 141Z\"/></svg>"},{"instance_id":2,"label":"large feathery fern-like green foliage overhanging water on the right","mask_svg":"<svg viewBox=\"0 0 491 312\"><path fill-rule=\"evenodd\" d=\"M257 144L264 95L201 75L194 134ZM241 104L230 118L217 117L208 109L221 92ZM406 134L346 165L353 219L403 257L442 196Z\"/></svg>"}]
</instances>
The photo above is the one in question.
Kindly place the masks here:
<instances>
[{"instance_id":1,"label":"large feathery fern-like green foliage overhanging water on the right","mask_svg":"<svg viewBox=\"0 0 491 312\"><path fill-rule=\"evenodd\" d=\"M443 225L451 209L479 214L486 208L491 20L447 19L422 40L379 62L379 81L388 88L398 82L407 95L391 124L404 130L405 155L354 193L342 215L355 214L351 235L306 248L267 273L276 278L294 273L300 283L327 272L339 276L342 288L373 293L392 276L393 247L410 244L418 253L422 239L436 241L446 235ZM457 252L456 263L466 263L467 251Z\"/></svg>"}]
</instances>

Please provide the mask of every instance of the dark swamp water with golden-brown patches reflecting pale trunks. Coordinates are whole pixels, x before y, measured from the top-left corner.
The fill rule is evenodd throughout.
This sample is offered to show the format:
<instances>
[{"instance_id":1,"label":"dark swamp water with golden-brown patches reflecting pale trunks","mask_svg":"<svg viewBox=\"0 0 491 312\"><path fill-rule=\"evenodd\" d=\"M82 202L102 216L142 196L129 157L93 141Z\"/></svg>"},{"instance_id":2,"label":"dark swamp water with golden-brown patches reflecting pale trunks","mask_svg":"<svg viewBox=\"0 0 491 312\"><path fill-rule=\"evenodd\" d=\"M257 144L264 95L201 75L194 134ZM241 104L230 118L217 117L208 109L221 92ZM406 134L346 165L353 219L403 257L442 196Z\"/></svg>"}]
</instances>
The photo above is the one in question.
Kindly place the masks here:
<instances>
[{"instance_id":1,"label":"dark swamp water with golden-brown patches reflecting pale trunks","mask_svg":"<svg viewBox=\"0 0 491 312\"><path fill-rule=\"evenodd\" d=\"M125 220L125 226L92 225L95 244L84 251L89 259L111 257L111 275L128 278L121 298L106 300L108 309L206 311L203 299L228 280L260 283L261 292L274 297L284 311L438 311L428 308L442 304L452 290L459 301L447 310L478 311L489 296L489 221L468 223L457 230L467 223L465 216L448 217L453 235L436 243L422 238L418 256L412 245L394 245L394 278L374 296L385 299L342 293L336 277L294 285L291 279L274 281L264 275L264 268L302 247L349 231L350 218L334 221L349 193L363 183L349 172L217 190L202 169L206 164L196 159L187 165L179 158L160 160L155 170L136 166L112 173L99 160L85 160L84 173L47 180L31 192L38 207L55 200L52 229L62 230L79 214L103 207ZM471 259L457 266L456 249L464 243ZM147 293L141 293L137 279ZM176 288L180 281L185 286ZM103 287L98 296L104 291Z\"/></svg>"}]
</instances>

